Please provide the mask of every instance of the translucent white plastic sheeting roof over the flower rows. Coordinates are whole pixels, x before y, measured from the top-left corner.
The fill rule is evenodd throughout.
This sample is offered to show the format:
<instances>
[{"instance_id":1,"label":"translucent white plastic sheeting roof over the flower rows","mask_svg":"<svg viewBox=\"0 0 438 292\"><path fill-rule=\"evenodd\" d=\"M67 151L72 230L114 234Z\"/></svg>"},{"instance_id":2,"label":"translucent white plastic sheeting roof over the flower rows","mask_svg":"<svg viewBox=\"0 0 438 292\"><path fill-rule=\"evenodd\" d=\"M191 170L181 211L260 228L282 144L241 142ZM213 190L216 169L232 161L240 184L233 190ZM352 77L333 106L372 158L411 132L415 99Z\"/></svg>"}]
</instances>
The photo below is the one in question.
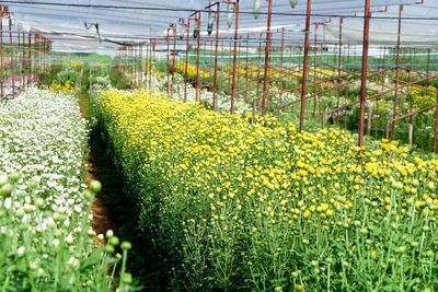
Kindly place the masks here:
<instances>
[{"instance_id":1,"label":"translucent white plastic sheeting roof over the flower rows","mask_svg":"<svg viewBox=\"0 0 438 292\"><path fill-rule=\"evenodd\" d=\"M170 25L184 33L181 23L191 19L191 32L195 16L200 14L200 36L212 39L215 33L207 34L207 23L214 22L219 7L220 37L234 36L235 22L239 35L257 44L260 35L267 30L268 1L240 0L239 14L237 0L218 2L215 0L47 0L47 1L0 1L8 5L12 23L24 33L38 33L53 42L53 49L62 51L108 52L128 44L145 44L151 39L165 43ZM254 2L260 3L257 19L254 16ZM299 46L303 42L307 16L307 0L272 1L273 44L279 45L283 34L285 45ZM311 28L323 26L316 32L319 42L338 42L338 23L343 17L344 43L361 42L364 23L364 0L312 0ZM438 19L438 3L435 0L371 0L371 43L393 45L396 39L400 5L404 5L402 40L404 44L430 44L435 46ZM199 12L195 14L195 12ZM4 30L3 20L3 30ZM231 24L231 25L230 25ZM318 24L318 25L314 25ZM216 27L214 27L216 31ZM403 33L405 32L405 33ZM192 35L192 33L191 33ZM191 42L193 37L191 37Z\"/></svg>"}]
</instances>

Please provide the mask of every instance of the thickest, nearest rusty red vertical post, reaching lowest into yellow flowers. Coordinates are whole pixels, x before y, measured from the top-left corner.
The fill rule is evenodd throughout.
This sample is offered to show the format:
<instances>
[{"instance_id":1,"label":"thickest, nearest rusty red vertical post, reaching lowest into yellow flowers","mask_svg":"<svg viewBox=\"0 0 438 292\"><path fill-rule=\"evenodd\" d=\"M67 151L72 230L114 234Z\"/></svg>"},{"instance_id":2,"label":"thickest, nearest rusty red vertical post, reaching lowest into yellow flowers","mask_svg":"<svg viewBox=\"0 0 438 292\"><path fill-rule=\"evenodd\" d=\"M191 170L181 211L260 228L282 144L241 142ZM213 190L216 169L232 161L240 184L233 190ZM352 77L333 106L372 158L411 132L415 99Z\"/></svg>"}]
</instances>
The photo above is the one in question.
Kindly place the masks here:
<instances>
[{"instance_id":1,"label":"thickest, nearest rusty red vertical post, reaching lowest into yellow flowers","mask_svg":"<svg viewBox=\"0 0 438 292\"><path fill-rule=\"evenodd\" d=\"M365 100L367 97L368 43L369 43L370 17L371 17L370 0L365 0L362 69L361 69L360 115L359 115L359 147L364 145L364 120L365 120Z\"/></svg>"}]
</instances>

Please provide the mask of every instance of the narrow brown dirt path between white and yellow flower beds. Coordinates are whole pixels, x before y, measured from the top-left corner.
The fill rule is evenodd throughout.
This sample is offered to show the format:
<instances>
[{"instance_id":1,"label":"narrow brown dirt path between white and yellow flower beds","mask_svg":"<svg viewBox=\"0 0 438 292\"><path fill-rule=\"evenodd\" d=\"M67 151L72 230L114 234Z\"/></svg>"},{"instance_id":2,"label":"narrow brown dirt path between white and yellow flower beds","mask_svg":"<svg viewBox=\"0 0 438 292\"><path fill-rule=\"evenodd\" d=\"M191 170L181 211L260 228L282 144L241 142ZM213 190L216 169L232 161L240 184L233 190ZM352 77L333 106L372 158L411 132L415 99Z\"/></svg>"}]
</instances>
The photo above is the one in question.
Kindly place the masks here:
<instances>
[{"instance_id":1,"label":"narrow brown dirt path between white and yellow flower beds","mask_svg":"<svg viewBox=\"0 0 438 292\"><path fill-rule=\"evenodd\" d=\"M80 106L81 106L81 114L82 117L87 118L88 117L88 101L85 97L81 96L79 97ZM87 161L87 167L85 167L85 184L89 185L91 180L101 180L99 179L100 174L102 173L101 170L99 168L97 162L94 157L93 149L90 151L88 161ZM106 203L104 199L104 194L105 194L105 184L104 182L101 182L103 184L102 192L95 196L94 201L93 201L93 207L92 207L92 212L93 212L93 223L92 227L96 234L106 234L106 231L108 230L116 230L116 225L112 219L112 210L110 206ZM97 241L95 240L97 243Z\"/></svg>"}]
</instances>

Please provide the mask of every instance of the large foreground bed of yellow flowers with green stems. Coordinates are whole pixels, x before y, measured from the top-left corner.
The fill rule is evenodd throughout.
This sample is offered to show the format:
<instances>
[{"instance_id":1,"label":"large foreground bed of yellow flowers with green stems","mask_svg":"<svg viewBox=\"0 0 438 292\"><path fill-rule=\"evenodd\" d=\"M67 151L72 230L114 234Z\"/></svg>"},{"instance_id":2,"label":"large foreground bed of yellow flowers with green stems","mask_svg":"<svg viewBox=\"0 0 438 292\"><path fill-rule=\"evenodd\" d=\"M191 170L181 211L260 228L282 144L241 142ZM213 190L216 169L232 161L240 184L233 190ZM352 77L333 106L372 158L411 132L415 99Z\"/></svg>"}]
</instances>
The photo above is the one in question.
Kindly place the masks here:
<instances>
[{"instance_id":1,"label":"large foreground bed of yellow flowers with green stems","mask_svg":"<svg viewBox=\"0 0 438 292\"><path fill-rule=\"evenodd\" d=\"M437 160L163 96L107 91L96 108L168 289L438 289Z\"/></svg>"}]
</instances>

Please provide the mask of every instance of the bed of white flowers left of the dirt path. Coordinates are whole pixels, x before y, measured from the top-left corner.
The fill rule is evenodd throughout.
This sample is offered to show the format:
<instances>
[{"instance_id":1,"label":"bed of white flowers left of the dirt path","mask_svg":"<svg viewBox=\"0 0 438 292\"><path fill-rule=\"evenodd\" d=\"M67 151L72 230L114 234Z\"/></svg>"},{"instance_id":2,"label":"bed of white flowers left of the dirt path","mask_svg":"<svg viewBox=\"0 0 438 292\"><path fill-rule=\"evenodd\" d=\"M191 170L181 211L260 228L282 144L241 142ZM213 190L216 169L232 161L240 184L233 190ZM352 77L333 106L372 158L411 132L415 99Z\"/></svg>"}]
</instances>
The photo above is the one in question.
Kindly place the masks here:
<instances>
[{"instance_id":1,"label":"bed of white flowers left of the dirt path","mask_svg":"<svg viewBox=\"0 0 438 292\"><path fill-rule=\"evenodd\" d=\"M87 153L87 122L73 95L31 87L0 104L2 291L118 287L108 275L120 259L111 256L118 238L108 234L107 246L93 245L94 194L82 184ZM90 185L94 192L100 188ZM119 288L127 291L130 275L120 277Z\"/></svg>"}]
</instances>

